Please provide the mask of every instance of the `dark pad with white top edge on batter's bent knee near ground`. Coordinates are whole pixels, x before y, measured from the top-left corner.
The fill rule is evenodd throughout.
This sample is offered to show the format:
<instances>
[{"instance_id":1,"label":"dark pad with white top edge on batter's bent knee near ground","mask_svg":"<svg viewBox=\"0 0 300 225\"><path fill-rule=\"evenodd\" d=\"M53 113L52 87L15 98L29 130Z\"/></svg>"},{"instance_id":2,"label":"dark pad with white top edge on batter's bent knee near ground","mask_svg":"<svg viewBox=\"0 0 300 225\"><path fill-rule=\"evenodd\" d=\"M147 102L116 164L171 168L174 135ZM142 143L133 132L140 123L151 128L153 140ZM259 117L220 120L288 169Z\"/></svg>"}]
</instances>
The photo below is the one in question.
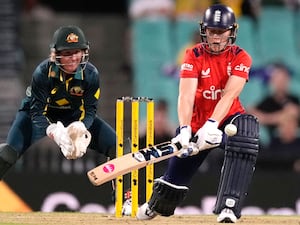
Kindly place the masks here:
<instances>
[{"instance_id":1,"label":"dark pad with white top edge on batter's bent knee near ground","mask_svg":"<svg viewBox=\"0 0 300 225\"><path fill-rule=\"evenodd\" d=\"M171 184L161 178L154 180L153 192L148 202L149 208L161 216L171 216L188 192L186 186Z\"/></svg>"}]
</instances>

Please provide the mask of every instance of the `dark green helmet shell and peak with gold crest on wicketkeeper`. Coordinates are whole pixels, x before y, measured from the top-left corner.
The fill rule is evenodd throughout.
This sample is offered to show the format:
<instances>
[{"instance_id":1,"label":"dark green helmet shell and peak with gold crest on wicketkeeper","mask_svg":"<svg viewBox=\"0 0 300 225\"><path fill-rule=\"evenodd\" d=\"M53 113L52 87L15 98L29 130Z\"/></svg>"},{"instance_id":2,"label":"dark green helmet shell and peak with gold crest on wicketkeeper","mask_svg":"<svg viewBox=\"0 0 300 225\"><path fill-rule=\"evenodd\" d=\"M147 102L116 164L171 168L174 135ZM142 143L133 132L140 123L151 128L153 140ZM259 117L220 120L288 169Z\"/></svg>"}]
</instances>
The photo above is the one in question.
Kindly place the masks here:
<instances>
[{"instance_id":1,"label":"dark green helmet shell and peak with gold crest on wicketkeeper","mask_svg":"<svg viewBox=\"0 0 300 225\"><path fill-rule=\"evenodd\" d=\"M70 25L60 27L54 32L50 48L55 51L89 49L89 43L79 27Z\"/></svg>"}]
</instances>

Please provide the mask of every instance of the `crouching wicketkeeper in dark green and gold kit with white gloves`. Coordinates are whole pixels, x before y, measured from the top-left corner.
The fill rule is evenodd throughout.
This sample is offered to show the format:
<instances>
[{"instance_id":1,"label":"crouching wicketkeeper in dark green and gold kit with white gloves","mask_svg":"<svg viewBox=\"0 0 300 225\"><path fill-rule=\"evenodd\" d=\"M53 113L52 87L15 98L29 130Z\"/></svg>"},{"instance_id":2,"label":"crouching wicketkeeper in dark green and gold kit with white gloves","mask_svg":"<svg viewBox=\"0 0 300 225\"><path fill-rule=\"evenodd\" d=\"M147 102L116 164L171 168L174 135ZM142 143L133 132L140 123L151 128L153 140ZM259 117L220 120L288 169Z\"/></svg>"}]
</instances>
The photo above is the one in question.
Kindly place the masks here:
<instances>
[{"instance_id":1,"label":"crouching wicketkeeper in dark green and gold kit with white gloves","mask_svg":"<svg viewBox=\"0 0 300 225\"><path fill-rule=\"evenodd\" d=\"M82 157L87 148L114 158L115 131L96 114L100 76L88 61L89 48L79 27L55 31L50 57L33 72L7 141L0 145L0 179L29 146L45 136L67 159Z\"/></svg>"}]
</instances>

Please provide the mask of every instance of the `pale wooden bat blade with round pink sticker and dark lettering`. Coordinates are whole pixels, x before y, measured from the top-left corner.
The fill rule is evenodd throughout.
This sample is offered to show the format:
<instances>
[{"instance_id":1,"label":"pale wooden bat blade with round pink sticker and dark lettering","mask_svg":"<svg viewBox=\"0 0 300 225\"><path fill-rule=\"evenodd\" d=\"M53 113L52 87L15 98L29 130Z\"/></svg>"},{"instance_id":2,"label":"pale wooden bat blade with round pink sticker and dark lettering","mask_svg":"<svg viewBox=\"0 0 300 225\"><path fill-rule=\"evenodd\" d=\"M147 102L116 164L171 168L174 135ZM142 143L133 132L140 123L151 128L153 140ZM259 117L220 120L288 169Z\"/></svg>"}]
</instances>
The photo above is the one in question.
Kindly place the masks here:
<instances>
[{"instance_id":1,"label":"pale wooden bat blade with round pink sticker and dark lettering","mask_svg":"<svg viewBox=\"0 0 300 225\"><path fill-rule=\"evenodd\" d=\"M141 169L151 163L171 158L180 153L179 149L180 146L176 144L164 142L107 161L89 170L87 176L92 184L99 186L132 170Z\"/></svg>"}]
</instances>

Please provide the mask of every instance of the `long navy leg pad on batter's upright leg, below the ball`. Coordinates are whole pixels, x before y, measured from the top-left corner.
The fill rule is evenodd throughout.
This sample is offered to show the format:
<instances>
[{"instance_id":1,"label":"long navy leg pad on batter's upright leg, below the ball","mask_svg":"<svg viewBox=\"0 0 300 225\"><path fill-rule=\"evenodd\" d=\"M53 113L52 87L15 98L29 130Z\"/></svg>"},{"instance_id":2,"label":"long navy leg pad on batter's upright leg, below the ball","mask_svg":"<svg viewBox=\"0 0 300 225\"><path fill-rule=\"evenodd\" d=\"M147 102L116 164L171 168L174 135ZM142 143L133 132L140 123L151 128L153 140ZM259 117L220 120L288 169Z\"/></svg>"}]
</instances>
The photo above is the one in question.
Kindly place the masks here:
<instances>
[{"instance_id":1,"label":"long navy leg pad on batter's upright leg, below the ball","mask_svg":"<svg viewBox=\"0 0 300 225\"><path fill-rule=\"evenodd\" d=\"M251 115L239 115L234 118L233 124L238 131L227 140L214 213L220 214L222 209L230 208L240 218L242 204L255 170L259 124Z\"/></svg>"}]
</instances>

